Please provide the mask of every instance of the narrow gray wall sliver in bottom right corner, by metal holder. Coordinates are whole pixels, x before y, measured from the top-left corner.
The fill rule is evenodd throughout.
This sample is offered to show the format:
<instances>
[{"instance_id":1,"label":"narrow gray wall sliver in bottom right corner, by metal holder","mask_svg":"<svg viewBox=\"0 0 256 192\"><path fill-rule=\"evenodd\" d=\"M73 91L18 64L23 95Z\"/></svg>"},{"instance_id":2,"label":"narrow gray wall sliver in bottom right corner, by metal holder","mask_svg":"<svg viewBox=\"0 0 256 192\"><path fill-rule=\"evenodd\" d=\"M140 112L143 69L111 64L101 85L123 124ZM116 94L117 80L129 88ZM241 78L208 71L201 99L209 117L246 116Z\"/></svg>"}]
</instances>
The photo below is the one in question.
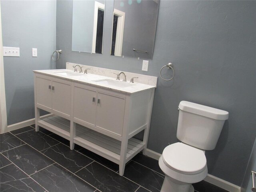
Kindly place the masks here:
<instances>
[{"instance_id":1,"label":"narrow gray wall sliver in bottom right corner, by metal holder","mask_svg":"<svg viewBox=\"0 0 256 192\"><path fill-rule=\"evenodd\" d=\"M242 182L242 192L252 192L252 172L256 171L256 139L252 148L252 153L250 155L250 160L248 162L246 172L244 174L244 179Z\"/></svg>"}]
</instances>

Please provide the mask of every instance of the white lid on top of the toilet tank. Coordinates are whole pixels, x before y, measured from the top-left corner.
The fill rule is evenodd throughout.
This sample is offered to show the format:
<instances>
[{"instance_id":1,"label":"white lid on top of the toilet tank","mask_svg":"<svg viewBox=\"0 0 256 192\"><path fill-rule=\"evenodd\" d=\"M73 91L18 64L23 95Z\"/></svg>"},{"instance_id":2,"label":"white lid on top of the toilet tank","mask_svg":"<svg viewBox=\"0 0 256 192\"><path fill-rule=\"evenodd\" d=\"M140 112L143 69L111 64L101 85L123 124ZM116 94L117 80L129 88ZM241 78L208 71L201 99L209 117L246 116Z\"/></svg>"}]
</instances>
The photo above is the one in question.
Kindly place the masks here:
<instances>
[{"instance_id":1,"label":"white lid on top of the toilet tank","mask_svg":"<svg viewBox=\"0 0 256 192\"><path fill-rule=\"evenodd\" d=\"M180 110L202 115L208 118L216 120L226 120L228 119L228 112L188 101L181 101L179 104Z\"/></svg>"}]
</instances>

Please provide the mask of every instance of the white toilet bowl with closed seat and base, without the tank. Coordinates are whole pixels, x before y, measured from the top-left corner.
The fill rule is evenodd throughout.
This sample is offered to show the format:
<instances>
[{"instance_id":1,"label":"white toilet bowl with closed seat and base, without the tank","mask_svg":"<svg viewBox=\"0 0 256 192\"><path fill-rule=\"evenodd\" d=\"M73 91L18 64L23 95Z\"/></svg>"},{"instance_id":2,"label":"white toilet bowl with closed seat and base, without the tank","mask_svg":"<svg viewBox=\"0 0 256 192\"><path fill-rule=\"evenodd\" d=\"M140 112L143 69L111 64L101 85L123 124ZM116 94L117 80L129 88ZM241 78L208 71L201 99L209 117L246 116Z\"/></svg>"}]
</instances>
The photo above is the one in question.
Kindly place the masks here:
<instances>
[{"instance_id":1,"label":"white toilet bowl with closed seat and base, without the tank","mask_svg":"<svg viewBox=\"0 0 256 192\"><path fill-rule=\"evenodd\" d=\"M159 166L166 175L161 192L194 192L192 183L208 173L204 151L180 142L164 149Z\"/></svg>"}]
</instances>

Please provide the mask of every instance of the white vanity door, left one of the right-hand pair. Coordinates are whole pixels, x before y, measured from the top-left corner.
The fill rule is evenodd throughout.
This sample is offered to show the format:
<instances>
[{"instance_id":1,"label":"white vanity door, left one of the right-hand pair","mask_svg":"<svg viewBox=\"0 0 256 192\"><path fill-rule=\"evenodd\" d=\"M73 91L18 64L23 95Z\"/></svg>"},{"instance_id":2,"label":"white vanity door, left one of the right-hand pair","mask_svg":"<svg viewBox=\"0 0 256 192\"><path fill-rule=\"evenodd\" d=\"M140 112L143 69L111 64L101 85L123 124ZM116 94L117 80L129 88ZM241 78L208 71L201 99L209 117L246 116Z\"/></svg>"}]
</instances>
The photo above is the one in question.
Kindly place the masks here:
<instances>
[{"instance_id":1,"label":"white vanity door, left one of the right-hand pair","mask_svg":"<svg viewBox=\"0 0 256 192\"><path fill-rule=\"evenodd\" d=\"M74 118L95 126L97 91L74 86Z\"/></svg>"}]
</instances>

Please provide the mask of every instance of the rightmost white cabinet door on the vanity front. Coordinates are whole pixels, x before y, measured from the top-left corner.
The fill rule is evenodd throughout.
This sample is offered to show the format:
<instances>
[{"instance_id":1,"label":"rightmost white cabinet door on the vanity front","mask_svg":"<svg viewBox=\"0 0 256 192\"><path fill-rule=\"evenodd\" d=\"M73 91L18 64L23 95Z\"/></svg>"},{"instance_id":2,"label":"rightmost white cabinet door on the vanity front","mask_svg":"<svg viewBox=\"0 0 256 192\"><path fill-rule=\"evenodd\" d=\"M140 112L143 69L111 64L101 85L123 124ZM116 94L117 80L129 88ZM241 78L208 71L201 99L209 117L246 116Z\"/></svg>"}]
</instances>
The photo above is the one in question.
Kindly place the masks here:
<instances>
[{"instance_id":1,"label":"rightmost white cabinet door on the vanity front","mask_svg":"<svg viewBox=\"0 0 256 192\"><path fill-rule=\"evenodd\" d=\"M98 92L96 127L122 136L125 98Z\"/></svg>"}]
</instances>

